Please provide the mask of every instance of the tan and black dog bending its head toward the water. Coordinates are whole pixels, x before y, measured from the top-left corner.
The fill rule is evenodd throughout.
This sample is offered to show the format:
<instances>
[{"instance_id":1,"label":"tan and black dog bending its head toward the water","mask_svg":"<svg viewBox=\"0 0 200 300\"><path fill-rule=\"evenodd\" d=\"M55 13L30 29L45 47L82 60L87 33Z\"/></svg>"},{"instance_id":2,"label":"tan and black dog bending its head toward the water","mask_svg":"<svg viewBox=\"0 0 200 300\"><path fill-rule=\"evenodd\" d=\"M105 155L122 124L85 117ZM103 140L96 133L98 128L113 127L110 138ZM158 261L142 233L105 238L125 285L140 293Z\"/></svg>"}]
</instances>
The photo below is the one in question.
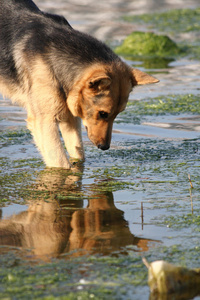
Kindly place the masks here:
<instances>
[{"instance_id":1,"label":"tan and black dog bending its head toward the water","mask_svg":"<svg viewBox=\"0 0 200 300\"><path fill-rule=\"evenodd\" d=\"M27 110L27 125L48 167L84 160L89 139L110 147L113 121L135 85L158 82L126 65L97 39L31 0L0 0L0 91Z\"/></svg>"}]
</instances>

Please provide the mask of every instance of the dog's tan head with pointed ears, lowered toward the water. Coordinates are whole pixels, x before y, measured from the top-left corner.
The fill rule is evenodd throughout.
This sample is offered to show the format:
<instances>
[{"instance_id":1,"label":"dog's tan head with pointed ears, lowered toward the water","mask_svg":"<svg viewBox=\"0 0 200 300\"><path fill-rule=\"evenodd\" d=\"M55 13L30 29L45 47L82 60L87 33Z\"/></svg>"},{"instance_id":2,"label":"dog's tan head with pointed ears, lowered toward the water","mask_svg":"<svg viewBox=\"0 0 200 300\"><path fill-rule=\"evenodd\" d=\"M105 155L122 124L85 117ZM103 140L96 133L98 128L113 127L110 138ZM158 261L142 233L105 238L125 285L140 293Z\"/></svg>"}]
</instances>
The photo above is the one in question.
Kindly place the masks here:
<instances>
[{"instance_id":1,"label":"dog's tan head with pointed ears, lowered toward the water","mask_svg":"<svg viewBox=\"0 0 200 300\"><path fill-rule=\"evenodd\" d=\"M82 118L92 143L107 150L113 121L125 109L133 87L156 82L156 78L124 63L93 66L70 91L68 108L74 116Z\"/></svg>"}]
</instances>

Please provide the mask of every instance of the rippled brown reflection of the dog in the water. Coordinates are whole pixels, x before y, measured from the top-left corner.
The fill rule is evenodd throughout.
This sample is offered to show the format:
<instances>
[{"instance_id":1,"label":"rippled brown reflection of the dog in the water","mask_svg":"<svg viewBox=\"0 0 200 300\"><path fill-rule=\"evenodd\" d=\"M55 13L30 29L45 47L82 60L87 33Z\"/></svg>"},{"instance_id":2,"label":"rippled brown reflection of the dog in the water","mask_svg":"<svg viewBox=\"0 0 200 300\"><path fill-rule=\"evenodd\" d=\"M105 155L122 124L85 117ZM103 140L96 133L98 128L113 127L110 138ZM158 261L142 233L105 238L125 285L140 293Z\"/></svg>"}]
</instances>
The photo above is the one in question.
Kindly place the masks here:
<instances>
[{"instance_id":1,"label":"rippled brown reflection of the dog in the water","mask_svg":"<svg viewBox=\"0 0 200 300\"><path fill-rule=\"evenodd\" d=\"M70 252L110 254L128 245L145 251L153 242L130 232L112 192L95 191L93 185L88 197L81 196L81 175L44 172L36 191L44 199L30 199L26 211L2 217L0 245L31 249L34 257L47 260Z\"/></svg>"}]
</instances>

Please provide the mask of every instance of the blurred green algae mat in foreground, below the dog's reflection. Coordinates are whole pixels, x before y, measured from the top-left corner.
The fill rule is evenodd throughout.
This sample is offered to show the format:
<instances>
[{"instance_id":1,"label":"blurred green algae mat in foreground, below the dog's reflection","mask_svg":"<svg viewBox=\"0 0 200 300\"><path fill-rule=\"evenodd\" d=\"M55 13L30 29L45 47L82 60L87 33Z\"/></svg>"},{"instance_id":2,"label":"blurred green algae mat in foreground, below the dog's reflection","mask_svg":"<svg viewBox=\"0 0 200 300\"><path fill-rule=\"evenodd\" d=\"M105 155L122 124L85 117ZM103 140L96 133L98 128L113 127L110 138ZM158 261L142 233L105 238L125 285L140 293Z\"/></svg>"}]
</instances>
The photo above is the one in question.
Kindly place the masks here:
<instances>
[{"instance_id":1,"label":"blurred green algae mat in foreground, below the dog's reflection","mask_svg":"<svg viewBox=\"0 0 200 300\"><path fill-rule=\"evenodd\" d=\"M20 266L18 258L15 268L1 264L1 299L120 299L122 295L128 299L127 286L133 293L137 285L146 283L146 269L138 255L83 258L36 266Z\"/></svg>"}]
</instances>

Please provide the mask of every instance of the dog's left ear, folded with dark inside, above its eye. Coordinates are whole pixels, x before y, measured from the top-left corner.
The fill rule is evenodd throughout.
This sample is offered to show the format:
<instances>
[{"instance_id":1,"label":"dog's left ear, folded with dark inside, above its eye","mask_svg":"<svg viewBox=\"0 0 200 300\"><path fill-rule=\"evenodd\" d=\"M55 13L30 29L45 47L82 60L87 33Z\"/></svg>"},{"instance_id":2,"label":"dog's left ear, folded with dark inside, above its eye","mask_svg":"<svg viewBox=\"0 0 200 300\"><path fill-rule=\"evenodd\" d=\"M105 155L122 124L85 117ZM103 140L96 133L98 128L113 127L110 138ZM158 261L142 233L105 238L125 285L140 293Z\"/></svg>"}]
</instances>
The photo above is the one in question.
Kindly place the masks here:
<instances>
[{"instance_id":1,"label":"dog's left ear, folded with dark inside, above its eye","mask_svg":"<svg viewBox=\"0 0 200 300\"><path fill-rule=\"evenodd\" d=\"M88 88L95 93L108 90L111 84L111 78L106 74L96 74L88 80Z\"/></svg>"}]
</instances>

